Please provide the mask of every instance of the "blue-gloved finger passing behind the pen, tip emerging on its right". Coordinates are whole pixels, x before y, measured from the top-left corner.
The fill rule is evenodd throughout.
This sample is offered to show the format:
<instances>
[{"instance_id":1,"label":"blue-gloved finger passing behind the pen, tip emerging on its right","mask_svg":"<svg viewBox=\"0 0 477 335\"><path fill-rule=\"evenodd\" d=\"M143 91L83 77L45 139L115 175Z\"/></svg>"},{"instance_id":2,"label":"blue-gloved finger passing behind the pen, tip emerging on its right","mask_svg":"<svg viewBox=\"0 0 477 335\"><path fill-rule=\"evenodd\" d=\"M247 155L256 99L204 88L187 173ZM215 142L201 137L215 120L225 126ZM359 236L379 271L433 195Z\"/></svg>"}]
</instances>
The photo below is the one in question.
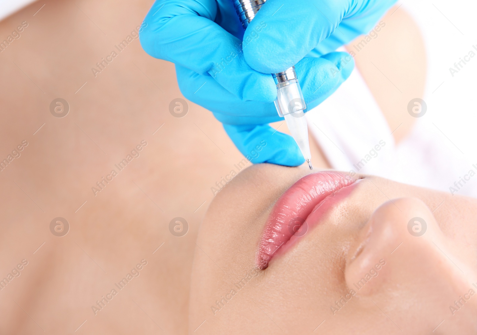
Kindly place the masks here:
<instances>
[{"instance_id":1,"label":"blue-gloved finger passing behind the pen, tip emerging on its right","mask_svg":"<svg viewBox=\"0 0 477 335\"><path fill-rule=\"evenodd\" d=\"M296 65L303 97L309 106L317 106L346 80L353 70L353 58L346 52L332 52L321 58L302 59ZM214 112L222 123L235 125L266 124L280 121L273 103L242 101L214 79L176 65L182 94L190 101Z\"/></svg>"}]
</instances>

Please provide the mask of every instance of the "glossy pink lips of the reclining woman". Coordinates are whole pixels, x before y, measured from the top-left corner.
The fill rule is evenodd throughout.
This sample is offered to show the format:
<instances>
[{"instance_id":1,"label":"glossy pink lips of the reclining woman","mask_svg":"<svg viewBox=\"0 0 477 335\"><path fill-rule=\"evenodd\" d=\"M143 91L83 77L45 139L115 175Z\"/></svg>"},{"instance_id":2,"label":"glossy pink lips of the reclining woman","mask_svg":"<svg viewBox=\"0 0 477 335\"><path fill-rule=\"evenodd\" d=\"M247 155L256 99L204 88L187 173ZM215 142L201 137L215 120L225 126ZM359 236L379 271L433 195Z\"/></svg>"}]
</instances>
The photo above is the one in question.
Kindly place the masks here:
<instances>
[{"instance_id":1,"label":"glossy pink lips of the reclining woman","mask_svg":"<svg viewBox=\"0 0 477 335\"><path fill-rule=\"evenodd\" d=\"M308 217L312 212L314 221L317 221L317 215L324 214L325 210L320 207L326 197L352 185L356 180L357 178L340 172L321 171L302 177L293 184L278 199L270 213L259 242L257 266L260 269L268 267L271 258L290 241L292 236L299 237L306 233L306 230L303 232L300 228L309 228L305 225L310 223ZM332 202L349 194L349 192L340 193L341 197L336 197L337 199ZM321 210L316 213L316 209L313 210L315 207Z\"/></svg>"}]
</instances>

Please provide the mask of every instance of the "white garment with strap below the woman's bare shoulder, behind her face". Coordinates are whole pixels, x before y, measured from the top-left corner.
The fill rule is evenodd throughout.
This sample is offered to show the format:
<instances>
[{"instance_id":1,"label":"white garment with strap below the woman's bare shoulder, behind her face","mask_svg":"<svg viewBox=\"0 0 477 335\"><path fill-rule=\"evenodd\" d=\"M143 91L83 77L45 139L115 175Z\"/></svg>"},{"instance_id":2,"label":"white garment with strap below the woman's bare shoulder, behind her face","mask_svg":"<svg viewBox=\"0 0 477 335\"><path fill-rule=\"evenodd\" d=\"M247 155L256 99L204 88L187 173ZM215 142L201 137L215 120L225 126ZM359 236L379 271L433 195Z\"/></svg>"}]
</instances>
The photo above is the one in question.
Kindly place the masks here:
<instances>
[{"instance_id":1,"label":"white garment with strap below the woman's bare shoulder, behind her face","mask_svg":"<svg viewBox=\"0 0 477 335\"><path fill-rule=\"evenodd\" d=\"M454 187L456 194L477 197L477 175L467 177L465 184L461 181L459 189L454 185L470 169L477 174L477 164L472 167L464 155L456 155L455 147L450 148L452 144L438 129L418 118L409 136L395 145L394 129L389 128L357 69L306 117L332 168L446 192Z\"/></svg>"}]
</instances>

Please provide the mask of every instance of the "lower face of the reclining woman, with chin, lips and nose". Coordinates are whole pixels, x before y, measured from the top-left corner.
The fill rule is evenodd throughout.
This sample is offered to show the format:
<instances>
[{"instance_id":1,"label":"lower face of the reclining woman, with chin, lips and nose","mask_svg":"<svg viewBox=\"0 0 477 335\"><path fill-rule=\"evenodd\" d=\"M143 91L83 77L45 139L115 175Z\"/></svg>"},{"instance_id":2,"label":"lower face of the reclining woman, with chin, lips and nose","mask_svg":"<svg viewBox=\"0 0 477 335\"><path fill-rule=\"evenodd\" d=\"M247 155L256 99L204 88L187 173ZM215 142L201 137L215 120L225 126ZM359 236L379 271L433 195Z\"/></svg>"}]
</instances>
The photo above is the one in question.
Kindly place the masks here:
<instances>
[{"instance_id":1,"label":"lower face of the reclining woman, with chin, lips and nose","mask_svg":"<svg viewBox=\"0 0 477 335\"><path fill-rule=\"evenodd\" d=\"M217 194L191 334L477 332L476 200L308 173L256 165Z\"/></svg>"}]
</instances>

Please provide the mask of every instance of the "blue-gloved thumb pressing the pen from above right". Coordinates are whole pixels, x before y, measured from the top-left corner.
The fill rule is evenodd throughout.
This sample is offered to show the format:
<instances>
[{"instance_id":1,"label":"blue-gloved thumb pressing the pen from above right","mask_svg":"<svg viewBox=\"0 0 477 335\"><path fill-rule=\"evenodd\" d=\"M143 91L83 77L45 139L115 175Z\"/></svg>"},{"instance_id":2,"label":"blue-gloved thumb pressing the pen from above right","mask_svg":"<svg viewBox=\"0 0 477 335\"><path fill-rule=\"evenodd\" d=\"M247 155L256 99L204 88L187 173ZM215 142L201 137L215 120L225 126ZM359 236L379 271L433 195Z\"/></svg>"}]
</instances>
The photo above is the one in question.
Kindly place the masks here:
<instances>
[{"instance_id":1,"label":"blue-gloved thumb pressing the pen from above right","mask_svg":"<svg viewBox=\"0 0 477 335\"><path fill-rule=\"evenodd\" d=\"M266 25L259 38L251 39L244 48L245 59L260 72L284 71L330 37L342 20L346 20L354 33L338 31L333 37L342 34L340 43L347 43L370 30L395 1L268 0L245 31L244 40L258 27ZM353 20L358 24L352 24Z\"/></svg>"}]
</instances>

